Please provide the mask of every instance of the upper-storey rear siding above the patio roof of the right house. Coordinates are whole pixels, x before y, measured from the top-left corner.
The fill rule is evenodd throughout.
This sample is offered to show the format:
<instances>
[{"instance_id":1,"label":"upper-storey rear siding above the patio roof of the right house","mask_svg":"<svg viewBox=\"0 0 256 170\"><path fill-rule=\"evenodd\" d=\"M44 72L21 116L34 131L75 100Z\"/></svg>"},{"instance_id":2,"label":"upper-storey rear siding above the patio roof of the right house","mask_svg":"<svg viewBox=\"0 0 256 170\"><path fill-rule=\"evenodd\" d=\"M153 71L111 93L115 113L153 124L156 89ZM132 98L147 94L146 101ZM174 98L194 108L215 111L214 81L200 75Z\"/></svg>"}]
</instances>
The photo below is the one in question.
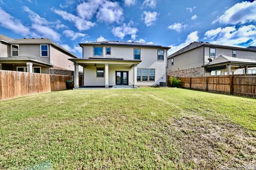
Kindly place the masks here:
<instances>
[{"instance_id":1,"label":"upper-storey rear siding above the patio roof of the right house","mask_svg":"<svg viewBox=\"0 0 256 170\"><path fill-rule=\"evenodd\" d=\"M210 48L211 47L205 47L204 49L204 62L205 64L208 63L209 55L210 55ZM216 57L220 55L226 55L226 56L232 56L232 48L215 48ZM244 50L236 50L236 57L241 59L251 59L256 60L256 51L244 51ZM213 58L212 58L213 59Z\"/></svg>"}]
</instances>

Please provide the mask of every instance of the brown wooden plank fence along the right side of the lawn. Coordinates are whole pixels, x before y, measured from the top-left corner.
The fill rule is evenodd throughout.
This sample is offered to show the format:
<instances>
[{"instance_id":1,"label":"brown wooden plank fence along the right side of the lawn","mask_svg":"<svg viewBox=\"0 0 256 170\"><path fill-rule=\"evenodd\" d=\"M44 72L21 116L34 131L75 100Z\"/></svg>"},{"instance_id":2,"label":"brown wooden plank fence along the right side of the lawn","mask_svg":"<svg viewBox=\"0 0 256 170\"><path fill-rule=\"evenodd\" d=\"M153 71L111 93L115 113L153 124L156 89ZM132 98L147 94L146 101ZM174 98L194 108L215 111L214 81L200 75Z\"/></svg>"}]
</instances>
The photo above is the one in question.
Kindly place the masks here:
<instances>
[{"instance_id":1,"label":"brown wooden plank fence along the right side of the lawn","mask_svg":"<svg viewBox=\"0 0 256 170\"><path fill-rule=\"evenodd\" d=\"M179 78L183 88L256 97L256 74Z\"/></svg>"}]
</instances>

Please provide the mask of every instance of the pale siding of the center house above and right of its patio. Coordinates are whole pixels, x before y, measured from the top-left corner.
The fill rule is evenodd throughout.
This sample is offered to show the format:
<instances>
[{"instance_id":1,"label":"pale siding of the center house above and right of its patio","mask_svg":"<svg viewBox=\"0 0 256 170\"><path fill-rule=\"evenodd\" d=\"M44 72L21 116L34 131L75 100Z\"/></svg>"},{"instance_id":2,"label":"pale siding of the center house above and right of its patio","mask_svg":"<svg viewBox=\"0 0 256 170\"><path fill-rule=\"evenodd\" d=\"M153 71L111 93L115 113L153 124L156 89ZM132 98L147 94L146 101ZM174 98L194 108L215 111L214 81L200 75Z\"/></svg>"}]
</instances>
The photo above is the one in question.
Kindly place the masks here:
<instances>
[{"instance_id":1,"label":"pale siding of the center house above and right of its patio","mask_svg":"<svg viewBox=\"0 0 256 170\"><path fill-rule=\"evenodd\" d=\"M106 48L111 47L111 55L106 55ZM103 56L93 56L93 46L83 46L83 58L122 58L125 60L133 60L133 49L141 49L141 62L137 68L155 69L155 81L154 82L137 82L137 85L149 85L154 86L159 82L166 82L166 66L167 66L167 52L164 50L164 60L157 60L157 50L161 48L146 48L146 47L124 47L124 46L103 46ZM202 55L203 62L203 55ZM109 68L110 69L110 68ZM110 70L109 70L110 71ZM86 73L85 73L86 75ZM129 73L129 76L131 74ZM130 80L129 80L130 81ZM93 83L93 82L92 82ZM93 83L94 85L97 83Z\"/></svg>"}]
</instances>

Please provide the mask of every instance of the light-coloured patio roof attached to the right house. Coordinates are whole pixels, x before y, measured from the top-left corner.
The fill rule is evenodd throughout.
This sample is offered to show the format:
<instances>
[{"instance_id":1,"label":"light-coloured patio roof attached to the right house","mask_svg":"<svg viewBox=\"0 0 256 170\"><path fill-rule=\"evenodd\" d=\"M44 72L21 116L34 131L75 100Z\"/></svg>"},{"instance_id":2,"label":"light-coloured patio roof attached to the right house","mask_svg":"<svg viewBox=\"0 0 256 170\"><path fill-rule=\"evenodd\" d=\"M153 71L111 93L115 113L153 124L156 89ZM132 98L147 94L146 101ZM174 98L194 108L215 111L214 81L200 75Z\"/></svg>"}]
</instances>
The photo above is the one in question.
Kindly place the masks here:
<instances>
[{"instance_id":1,"label":"light-coloured patio roof attached to the right house","mask_svg":"<svg viewBox=\"0 0 256 170\"><path fill-rule=\"evenodd\" d=\"M211 66L216 66L219 64L227 64L227 63L234 63L234 64L254 64L256 66L256 60L250 60L250 59L241 59L241 58L234 58L231 56L226 56L226 55L220 55L212 62L205 64L203 67L211 67Z\"/></svg>"}]
</instances>

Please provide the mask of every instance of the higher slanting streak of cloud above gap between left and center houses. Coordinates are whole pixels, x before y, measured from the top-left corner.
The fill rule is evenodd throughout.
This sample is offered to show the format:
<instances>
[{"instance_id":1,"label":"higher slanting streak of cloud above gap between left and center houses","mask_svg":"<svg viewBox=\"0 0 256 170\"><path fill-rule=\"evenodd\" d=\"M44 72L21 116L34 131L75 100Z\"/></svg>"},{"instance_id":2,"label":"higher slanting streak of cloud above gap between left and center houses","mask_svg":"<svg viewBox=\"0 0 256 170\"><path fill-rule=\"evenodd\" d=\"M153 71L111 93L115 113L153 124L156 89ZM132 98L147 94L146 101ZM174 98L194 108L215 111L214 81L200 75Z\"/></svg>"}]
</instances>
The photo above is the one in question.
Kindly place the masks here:
<instances>
[{"instance_id":1,"label":"higher slanting streak of cloud above gap between left and center houses","mask_svg":"<svg viewBox=\"0 0 256 170\"><path fill-rule=\"evenodd\" d=\"M53 9L53 11L55 13L59 14L64 20L73 22L75 24L76 28L79 30L88 30L95 26L94 22L87 21L81 17L78 17L78 16L68 13L66 11L56 10L56 9Z\"/></svg>"}]
</instances>

